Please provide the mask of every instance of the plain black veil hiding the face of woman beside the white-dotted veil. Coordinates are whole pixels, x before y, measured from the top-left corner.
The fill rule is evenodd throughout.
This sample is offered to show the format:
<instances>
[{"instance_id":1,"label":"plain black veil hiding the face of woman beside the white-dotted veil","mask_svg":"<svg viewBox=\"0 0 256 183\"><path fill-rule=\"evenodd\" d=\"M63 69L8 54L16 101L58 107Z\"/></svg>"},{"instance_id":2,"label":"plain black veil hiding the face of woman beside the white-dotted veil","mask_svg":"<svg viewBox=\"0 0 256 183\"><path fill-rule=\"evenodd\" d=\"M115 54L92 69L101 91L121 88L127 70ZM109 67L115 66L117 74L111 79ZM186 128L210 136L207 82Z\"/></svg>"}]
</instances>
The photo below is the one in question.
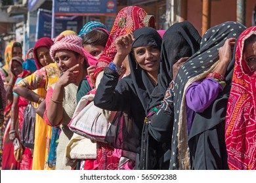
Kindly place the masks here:
<instances>
[{"instance_id":1,"label":"plain black veil hiding the face of woman beside the white-dotted veil","mask_svg":"<svg viewBox=\"0 0 256 183\"><path fill-rule=\"evenodd\" d=\"M161 104L167 87L173 78L173 64L180 58L190 57L200 48L201 36L188 21L171 25L163 35L158 84L150 95L150 108Z\"/></svg>"}]
</instances>

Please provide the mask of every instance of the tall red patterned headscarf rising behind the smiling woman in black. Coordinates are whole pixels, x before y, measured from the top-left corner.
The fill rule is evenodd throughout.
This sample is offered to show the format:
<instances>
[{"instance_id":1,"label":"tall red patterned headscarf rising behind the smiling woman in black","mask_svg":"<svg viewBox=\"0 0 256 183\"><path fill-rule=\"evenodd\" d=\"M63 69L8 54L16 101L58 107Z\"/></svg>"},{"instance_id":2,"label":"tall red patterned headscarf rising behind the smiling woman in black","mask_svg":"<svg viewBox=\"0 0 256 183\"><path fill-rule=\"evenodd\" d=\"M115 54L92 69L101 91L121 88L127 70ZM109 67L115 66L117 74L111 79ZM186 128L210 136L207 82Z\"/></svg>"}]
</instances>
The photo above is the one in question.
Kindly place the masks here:
<instances>
[{"instance_id":1,"label":"tall red patterned headscarf rising behind the smiling woman in black","mask_svg":"<svg viewBox=\"0 0 256 183\"><path fill-rule=\"evenodd\" d=\"M141 27L154 28L154 16L147 15L146 10L136 6L125 7L118 12L112 30L110 31L104 53L98 58L96 63L96 70L93 75L95 80L98 73L103 71L104 67L108 66L114 59L116 55L116 44L114 41L116 38L127 35Z\"/></svg>"}]
</instances>

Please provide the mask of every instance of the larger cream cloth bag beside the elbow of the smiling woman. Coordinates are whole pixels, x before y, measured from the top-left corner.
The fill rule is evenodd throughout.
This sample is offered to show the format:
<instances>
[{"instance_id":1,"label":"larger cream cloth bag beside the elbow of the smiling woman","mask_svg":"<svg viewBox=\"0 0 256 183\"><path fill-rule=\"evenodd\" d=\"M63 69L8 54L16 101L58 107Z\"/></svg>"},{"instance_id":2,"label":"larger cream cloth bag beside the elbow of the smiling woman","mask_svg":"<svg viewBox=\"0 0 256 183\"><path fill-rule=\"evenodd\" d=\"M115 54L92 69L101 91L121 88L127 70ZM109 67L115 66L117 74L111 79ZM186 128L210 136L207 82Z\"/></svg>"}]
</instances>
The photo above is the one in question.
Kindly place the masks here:
<instances>
[{"instance_id":1,"label":"larger cream cloth bag beside the elbow of the smiling woman","mask_svg":"<svg viewBox=\"0 0 256 183\"><path fill-rule=\"evenodd\" d=\"M94 105L94 97L95 94L90 93L81 98L68 127L74 133L92 141L105 142L110 123L102 114L102 108Z\"/></svg>"}]
</instances>

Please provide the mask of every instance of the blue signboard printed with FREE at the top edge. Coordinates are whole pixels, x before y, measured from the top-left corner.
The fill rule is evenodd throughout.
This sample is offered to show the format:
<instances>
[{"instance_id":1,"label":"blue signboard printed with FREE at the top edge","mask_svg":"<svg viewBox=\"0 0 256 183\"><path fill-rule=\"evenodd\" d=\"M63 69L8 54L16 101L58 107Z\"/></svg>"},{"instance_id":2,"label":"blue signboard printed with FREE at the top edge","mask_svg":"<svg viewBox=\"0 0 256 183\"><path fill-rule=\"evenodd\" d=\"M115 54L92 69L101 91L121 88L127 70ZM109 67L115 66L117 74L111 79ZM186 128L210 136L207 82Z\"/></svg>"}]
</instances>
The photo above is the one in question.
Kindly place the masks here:
<instances>
[{"instance_id":1,"label":"blue signboard printed with FREE at the top edge","mask_svg":"<svg viewBox=\"0 0 256 183\"><path fill-rule=\"evenodd\" d=\"M116 0L53 0L56 16L116 15Z\"/></svg>"}]
</instances>

